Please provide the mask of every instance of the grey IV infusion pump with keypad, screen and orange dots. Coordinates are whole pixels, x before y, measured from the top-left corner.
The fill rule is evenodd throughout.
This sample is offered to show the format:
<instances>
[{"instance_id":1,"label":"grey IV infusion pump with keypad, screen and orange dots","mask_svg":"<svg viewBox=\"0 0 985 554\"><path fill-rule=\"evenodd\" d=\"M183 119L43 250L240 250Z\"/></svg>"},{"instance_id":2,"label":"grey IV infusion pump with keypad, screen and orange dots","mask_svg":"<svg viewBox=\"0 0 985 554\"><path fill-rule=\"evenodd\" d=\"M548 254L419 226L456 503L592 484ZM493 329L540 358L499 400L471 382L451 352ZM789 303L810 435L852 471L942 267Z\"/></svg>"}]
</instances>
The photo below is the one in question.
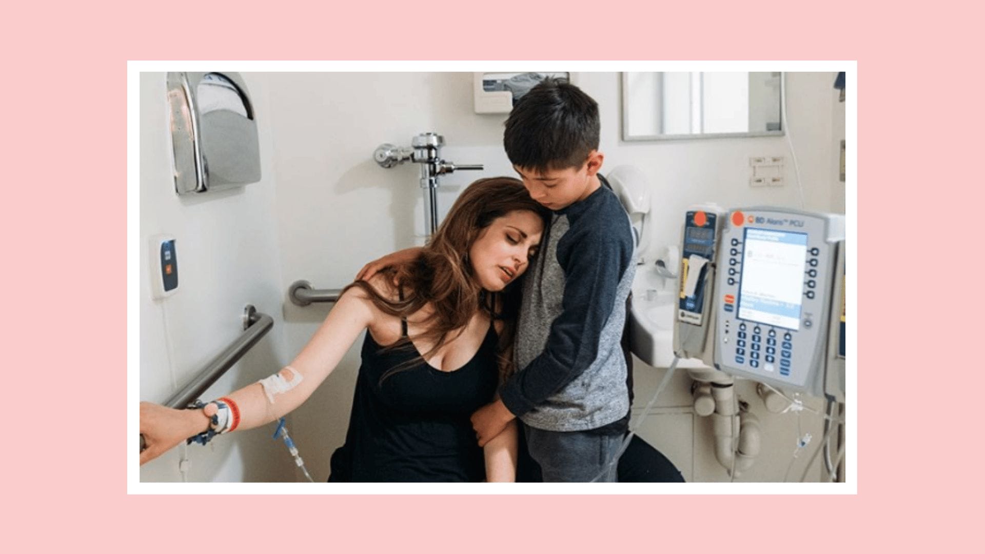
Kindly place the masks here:
<instances>
[{"instance_id":1,"label":"grey IV infusion pump with keypad, screen and orange dots","mask_svg":"<svg viewBox=\"0 0 985 554\"><path fill-rule=\"evenodd\" d=\"M842 215L689 210L675 353L844 401L844 237Z\"/></svg>"}]
</instances>

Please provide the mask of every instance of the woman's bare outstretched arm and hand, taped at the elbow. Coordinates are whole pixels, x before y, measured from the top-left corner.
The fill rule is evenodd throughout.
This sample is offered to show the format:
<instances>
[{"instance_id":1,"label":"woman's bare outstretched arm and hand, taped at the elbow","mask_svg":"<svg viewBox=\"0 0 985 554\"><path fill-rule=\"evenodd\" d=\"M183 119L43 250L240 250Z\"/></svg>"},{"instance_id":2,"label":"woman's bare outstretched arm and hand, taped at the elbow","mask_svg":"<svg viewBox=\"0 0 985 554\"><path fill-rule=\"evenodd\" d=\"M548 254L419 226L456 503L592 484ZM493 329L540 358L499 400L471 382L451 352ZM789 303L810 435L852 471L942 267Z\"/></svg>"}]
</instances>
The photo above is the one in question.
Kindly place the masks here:
<instances>
[{"instance_id":1,"label":"woman's bare outstretched arm and hand, taped at the elbow","mask_svg":"<svg viewBox=\"0 0 985 554\"><path fill-rule=\"evenodd\" d=\"M238 408L236 430L276 421L301 405L332 373L372 321L373 313L361 289L346 291L290 366L263 380L266 385L254 382L226 396ZM175 410L141 402L140 433L147 449L140 453L140 463L143 465L208 428L209 419L203 410Z\"/></svg>"}]
</instances>

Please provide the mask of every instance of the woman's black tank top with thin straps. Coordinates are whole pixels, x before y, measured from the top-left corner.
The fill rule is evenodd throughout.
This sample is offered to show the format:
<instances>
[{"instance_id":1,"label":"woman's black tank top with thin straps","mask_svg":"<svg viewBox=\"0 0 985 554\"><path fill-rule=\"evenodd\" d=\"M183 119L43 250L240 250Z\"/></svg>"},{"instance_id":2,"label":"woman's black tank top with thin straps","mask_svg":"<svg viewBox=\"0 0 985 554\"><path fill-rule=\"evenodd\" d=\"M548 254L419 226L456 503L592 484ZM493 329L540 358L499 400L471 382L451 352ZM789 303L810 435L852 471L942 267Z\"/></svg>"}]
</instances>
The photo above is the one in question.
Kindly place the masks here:
<instances>
[{"instance_id":1,"label":"woman's black tank top with thin straps","mask_svg":"<svg viewBox=\"0 0 985 554\"><path fill-rule=\"evenodd\" d=\"M403 296L403 295L401 295ZM407 336L407 322L402 323ZM329 481L483 481L486 463L470 417L493 401L498 384L490 322L476 355L442 372L422 363L380 378L419 357L417 348L384 351L366 331L346 444L332 454Z\"/></svg>"}]
</instances>

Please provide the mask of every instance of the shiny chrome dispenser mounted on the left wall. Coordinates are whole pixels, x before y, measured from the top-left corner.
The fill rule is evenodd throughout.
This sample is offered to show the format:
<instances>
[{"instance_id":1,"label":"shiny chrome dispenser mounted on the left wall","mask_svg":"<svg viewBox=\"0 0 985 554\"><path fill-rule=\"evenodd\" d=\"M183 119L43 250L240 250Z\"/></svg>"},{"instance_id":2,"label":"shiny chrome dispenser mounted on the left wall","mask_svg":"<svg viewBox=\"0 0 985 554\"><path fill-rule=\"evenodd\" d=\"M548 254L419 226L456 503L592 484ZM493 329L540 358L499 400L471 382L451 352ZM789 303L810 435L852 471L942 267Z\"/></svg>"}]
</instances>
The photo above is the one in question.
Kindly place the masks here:
<instances>
[{"instance_id":1,"label":"shiny chrome dispenser mounted on the left wall","mask_svg":"<svg viewBox=\"0 0 985 554\"><path fill-rule=\"evenodd\" d=\"M167 101L178 194L260 180L256 118L238 73L169 72Z\"/></svg>"}]
</instances>

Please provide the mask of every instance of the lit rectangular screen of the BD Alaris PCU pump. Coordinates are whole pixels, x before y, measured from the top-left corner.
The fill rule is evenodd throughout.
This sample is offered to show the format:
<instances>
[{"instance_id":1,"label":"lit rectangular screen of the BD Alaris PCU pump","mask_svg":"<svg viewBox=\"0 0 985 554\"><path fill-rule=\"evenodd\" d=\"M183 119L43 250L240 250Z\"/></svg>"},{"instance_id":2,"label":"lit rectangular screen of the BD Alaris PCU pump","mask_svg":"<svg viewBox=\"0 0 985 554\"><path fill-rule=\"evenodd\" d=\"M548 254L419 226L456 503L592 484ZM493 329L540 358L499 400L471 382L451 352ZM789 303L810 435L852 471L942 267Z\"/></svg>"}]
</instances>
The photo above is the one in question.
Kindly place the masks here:
<instances>
[{"instance_id":1,"label":"lit rectangular screen of the BD Alaris PCU pump","mask_svg":"<svg viewBox=\"0 0 985 554\"><path fill-rule=\"evenodd\" d=\"M800 329L807 234L746 229L739 317Z\"/></svg>"}]
</instances>

